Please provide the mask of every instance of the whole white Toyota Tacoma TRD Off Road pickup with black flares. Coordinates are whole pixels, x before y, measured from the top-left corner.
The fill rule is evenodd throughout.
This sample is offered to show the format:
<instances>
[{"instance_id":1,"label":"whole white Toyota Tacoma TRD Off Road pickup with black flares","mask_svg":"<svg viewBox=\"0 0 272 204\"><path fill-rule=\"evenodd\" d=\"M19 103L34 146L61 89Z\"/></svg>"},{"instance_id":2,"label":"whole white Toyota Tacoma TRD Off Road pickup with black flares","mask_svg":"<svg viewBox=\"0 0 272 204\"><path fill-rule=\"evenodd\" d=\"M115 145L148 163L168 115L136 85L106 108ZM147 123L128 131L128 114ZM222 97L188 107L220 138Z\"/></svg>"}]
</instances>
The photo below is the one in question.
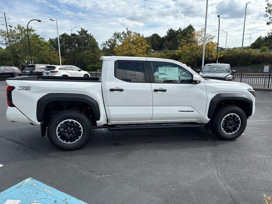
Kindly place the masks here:
<instances>
[{"instance_id":1,"label":"whole white Toyota Tacoma TRD Off Road pickup with black flares","mask_svg":"<svg viewBox=\"0 0 272 204\"><path fill-rule=\"evenodd\" d=\"M101 57L101 78L8 78L6 117L40 126L63 150L86 144L92 128L204 128L221 139L241 136L255 111L245 83L201 78L169 59ZM182 132L181 132L182 134Z\"/></svg>"}]
</instances>

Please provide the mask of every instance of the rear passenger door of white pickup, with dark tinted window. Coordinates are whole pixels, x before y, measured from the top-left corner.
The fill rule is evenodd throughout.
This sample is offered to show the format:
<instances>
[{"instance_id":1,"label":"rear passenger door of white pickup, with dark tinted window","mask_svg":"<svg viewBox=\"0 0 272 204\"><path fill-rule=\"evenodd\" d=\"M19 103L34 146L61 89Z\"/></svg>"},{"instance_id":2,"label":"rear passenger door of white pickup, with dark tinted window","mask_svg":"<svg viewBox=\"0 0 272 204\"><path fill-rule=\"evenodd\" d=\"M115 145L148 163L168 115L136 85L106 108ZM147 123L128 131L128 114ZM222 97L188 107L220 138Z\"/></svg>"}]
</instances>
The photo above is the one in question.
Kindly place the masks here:
<instances>
[{"instance_id":1,"label":"rear passenger door of white pickup, with dark tinted window","mask_svg":"<svg viewBox=\"0 0 272 204\"><path fill-rule=\"evenodd\" d=\"M107 62L105 107L109 122L151 121L152 91L147 61L119 59Z\"/></svg>"}]
</instances>

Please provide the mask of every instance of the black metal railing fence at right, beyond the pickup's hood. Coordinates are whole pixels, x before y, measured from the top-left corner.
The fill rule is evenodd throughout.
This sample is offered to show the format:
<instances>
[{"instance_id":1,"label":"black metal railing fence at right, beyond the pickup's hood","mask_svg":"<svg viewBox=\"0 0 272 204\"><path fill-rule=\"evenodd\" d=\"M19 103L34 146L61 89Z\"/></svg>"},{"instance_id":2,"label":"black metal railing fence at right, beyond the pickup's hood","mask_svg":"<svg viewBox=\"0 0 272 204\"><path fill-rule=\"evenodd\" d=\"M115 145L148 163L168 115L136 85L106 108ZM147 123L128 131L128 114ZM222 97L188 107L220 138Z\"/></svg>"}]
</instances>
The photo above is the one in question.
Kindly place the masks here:
<instances>
[{"instance_id":1,"label":"black metal railing fence at right, beyond the pickup's hood","mask_svg":"<svg viewBox=\"0 0 272 204\"><path fill-rule=\"evenodd\" d=\"M265 74L235 74L235 81L247 83L253 88L271 88L272 84L272 75L271 73L266 75Z\"/></svg>"}]
</instances>

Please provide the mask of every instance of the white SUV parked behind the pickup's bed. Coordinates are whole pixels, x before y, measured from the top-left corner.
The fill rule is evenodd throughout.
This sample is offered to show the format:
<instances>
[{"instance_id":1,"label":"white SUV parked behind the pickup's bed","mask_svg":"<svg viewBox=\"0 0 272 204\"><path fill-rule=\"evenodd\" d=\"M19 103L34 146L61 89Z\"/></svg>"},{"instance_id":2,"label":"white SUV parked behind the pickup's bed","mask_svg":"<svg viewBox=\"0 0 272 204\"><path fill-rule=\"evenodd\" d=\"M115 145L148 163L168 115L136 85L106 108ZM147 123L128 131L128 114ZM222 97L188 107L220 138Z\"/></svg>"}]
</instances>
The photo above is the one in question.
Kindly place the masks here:
<instances>
[{"instance_id":1,"label":"white SUV parked behind the pickup's bed","mask_svg":"<svg viewBox=\"0 0 272 204\"><path fill-rule=\"evenodd\" d=\"M78 76L90 77L90 74L71 65L49 65L44 68L44 76Z\"/></svg>"}]
</instances>

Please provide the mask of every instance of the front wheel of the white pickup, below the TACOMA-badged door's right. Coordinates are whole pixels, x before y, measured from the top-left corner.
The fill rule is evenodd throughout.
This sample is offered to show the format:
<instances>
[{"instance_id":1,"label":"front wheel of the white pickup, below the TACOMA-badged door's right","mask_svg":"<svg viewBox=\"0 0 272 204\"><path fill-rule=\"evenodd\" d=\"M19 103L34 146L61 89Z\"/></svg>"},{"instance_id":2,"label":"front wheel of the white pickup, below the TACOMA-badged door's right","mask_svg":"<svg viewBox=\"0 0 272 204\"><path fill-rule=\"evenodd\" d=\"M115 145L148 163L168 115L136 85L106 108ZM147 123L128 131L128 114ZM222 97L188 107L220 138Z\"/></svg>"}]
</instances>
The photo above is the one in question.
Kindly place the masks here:
<instances>
[{"instance_id":1,"label":"front wheel of the white pickup, below the TACOMA-badged door's right","mask_svg":"<svg viewBox=\"0 0 272 204\"><path fill-rule=\"evenodd\" d=\"M216 109L211 119L210 128L218 138L234 140L244 132L246 122L246 113L242 108L226 105Z\"/></svg>"}]
</instances>

